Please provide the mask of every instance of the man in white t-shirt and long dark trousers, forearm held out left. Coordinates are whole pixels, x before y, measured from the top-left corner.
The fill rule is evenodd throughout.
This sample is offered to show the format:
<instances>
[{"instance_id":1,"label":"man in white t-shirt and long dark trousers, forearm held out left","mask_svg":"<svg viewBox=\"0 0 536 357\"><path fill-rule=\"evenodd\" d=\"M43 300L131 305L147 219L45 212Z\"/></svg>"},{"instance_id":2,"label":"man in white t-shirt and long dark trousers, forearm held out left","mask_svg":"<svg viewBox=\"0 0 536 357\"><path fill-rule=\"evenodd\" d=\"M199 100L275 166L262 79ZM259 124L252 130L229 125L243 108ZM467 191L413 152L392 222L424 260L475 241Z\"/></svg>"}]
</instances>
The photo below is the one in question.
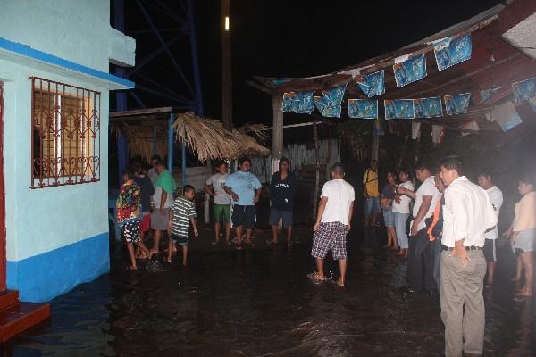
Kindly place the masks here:
<instances>
[{"instance_id":1,"label":"man in white t-shirt and long dark trousers, forearm held out left","mask_svg":"<svg viewBox=\"0 0 536 357\"><path fill-rule=\"evenodd\" d=\"M426 163L415 165L415 176L422 182L416 192L398 187L398 194L415 199L414 220L411 222L409 251L407 257L407 278L417 294L423 289L430 290L433 284L433 252L430 237L426 229L426 219L430 218L440 198L440 191L435 187L430 166ZM424 263L424 268L423 268Z\"/></svg>"}]
</instances>

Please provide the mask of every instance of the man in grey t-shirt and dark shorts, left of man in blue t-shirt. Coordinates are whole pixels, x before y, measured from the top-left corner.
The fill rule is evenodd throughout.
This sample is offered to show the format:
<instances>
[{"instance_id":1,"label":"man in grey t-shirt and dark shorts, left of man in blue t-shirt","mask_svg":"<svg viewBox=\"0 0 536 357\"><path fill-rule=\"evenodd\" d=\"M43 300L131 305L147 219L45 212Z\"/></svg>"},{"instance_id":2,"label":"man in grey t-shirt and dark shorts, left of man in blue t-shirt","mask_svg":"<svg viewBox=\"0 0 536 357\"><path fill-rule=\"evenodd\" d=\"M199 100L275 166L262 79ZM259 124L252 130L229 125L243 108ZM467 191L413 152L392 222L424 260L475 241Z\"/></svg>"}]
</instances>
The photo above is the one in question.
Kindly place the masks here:
<instances>
[{"instance_id":1,"label":"man in grey t-shirt and dark shorts, left of man in blue t-shirt","mask_svg":"<svg viewBox=\"0 0 536 357\"><path fill-rule=\"evenodd\" d=\"M205 192L214 197L214 231L216 234L214 245L220 243L222 224L225 225L225 243L230 244L230 195L224 189L229 176L227 169L227 162L218 162L216 164L217 172L205 182Z\"/></svg>"}]
</instances>

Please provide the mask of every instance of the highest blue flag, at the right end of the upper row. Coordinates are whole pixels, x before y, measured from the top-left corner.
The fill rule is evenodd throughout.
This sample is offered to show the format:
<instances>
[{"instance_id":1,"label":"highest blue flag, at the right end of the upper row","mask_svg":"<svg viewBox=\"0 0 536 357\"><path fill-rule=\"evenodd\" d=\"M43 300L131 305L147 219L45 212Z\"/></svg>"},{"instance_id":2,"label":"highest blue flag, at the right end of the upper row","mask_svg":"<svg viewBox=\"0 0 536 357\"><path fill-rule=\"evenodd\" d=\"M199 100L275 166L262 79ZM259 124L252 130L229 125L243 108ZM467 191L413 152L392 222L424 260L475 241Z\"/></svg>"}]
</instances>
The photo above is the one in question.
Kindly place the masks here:
<instances>
[{"instance_id":1,"label":"highest blue flag, at the right end of the upper row","mask_svg":"<svg viewBox=\"0 0 536 357\"><path fill-rule=\"evenodd\" d=\"M455 64L471 59L471 35L452 39L445 37L433 44L438 70L443 71Z\"/></svg>"}]
</instances>

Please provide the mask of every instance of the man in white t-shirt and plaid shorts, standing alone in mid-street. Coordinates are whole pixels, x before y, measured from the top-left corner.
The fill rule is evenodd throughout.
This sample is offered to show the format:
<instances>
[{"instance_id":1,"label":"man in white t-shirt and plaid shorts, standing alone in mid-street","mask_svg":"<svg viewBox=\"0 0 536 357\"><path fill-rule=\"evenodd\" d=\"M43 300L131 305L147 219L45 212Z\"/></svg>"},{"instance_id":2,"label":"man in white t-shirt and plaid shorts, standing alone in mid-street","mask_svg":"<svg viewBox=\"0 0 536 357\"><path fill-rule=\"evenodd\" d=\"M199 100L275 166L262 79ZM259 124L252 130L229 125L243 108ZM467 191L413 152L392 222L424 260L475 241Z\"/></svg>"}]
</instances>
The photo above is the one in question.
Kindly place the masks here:
<instances>
[{"instance_id":1,"label":"man in white t-shirt and plaid shorts, standing alone in mid-street","mask_svg":"<svg viewBox=\"0 0 536 357\"><path fill-rule=\"evenodd\" d=\"M350 220L354 212L354 187L344 180L344 166L335 163L331 181L322 187L316 223L314 224L313 251L316 272L309 274L314 282L324 281L323 260L331 250L333 259L339 261L340 278L338 286L344 286L347 270L346 236L350 230Z\"/></svg>"}]
</instances>

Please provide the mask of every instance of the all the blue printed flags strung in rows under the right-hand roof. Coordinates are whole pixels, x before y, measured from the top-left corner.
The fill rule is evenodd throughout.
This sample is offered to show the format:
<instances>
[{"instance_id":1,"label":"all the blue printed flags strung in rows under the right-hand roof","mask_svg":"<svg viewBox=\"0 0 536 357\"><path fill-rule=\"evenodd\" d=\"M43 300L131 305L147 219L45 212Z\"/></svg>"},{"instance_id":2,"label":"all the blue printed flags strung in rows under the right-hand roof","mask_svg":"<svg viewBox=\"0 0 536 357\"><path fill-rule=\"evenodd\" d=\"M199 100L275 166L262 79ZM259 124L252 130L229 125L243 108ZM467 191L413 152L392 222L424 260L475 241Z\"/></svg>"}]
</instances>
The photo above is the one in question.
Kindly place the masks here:
<instances>
[{"instance_id":1,"label":"all the blue printed flags strung in rows under the right-hand roof","mask_svg":"<svg viewBox=\"0 0 536 357\"><path fill-rule=\"evenodd\" d=\"M458 63L471 59L472 37L467 34L461 37L445 37L433 41L434 58L438 71L444 71ZM397 87L405 87L422 80L427 76L425 54L406 54L394 60L393 73ZM348 99L348 117L353 119L378 120L379 103L374 96L385 94L385 71L376 71L363 76L356 76L357 87L368 99ZM322 95L314 95L314 91L289 92L283 95L282 111L310 114L314 107L324 117L340 118L342 101L347 86L322 90ZM480 91L480 104L489 100L492 95L503 87L493 86ZM536 79L525 79L512 83L515 104L528 102L536 112ZM468 111L471 93L432 96L416 99L385 99L385 120L412 120L415 118L439 118L443 116L443 102L447 115L464 114ZM505 116L505 114L507 114ZM499 116L507 120L498 120ZM515 128L522 121L511 102L501 104L497 110L489 114L489 120L497 121L507 131ZM439 130L439 129L438 129ZM437 131L436 134L438 134ZM439 134L438 134L439 135ZM442 136L442 133L441 133Z\"/></svg>"}]
</instances>

